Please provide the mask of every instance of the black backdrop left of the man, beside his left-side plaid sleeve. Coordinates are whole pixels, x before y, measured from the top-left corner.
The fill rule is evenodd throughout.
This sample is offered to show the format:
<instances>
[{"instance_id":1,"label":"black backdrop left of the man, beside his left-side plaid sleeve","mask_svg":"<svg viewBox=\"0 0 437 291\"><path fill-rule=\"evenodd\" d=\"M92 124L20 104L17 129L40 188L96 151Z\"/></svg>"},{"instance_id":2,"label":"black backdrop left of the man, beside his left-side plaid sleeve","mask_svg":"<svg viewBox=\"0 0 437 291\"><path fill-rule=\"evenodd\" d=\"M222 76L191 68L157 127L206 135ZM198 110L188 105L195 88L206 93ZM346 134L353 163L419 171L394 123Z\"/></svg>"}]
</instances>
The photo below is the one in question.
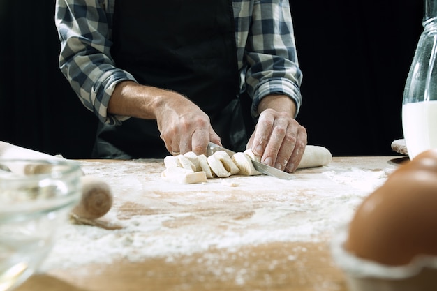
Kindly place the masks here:
<instances>
[{"instance_id":1,"label":"black backdrop left of the man, beside his left-side plaid sleeve","mask_svg":"<svg viewBox=\"0 0 437 291\"><path fill-rule=\"evenodd\" d=\"M97 121L58 68L54 1L0 1L0 140L89 156Z\"/></svg>"}]
</instances>

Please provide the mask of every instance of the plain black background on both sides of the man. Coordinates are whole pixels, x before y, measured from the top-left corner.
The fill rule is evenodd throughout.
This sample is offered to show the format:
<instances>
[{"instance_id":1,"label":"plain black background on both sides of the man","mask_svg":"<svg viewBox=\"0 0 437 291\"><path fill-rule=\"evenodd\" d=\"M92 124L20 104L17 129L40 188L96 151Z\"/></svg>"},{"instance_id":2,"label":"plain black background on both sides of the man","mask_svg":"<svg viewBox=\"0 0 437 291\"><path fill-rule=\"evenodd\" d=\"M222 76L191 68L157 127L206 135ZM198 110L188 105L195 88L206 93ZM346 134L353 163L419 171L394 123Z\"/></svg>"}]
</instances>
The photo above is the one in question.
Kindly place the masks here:
<instances>
[{"instance_id":1,"label":"plain black background on both sides of the man","mask_svg":"<svg viewBox=\"0 0 437 291\"><path fill-rule=\"evenodd\" d=\"M423 3L292 1L304 73L298 121L334 156L396 154ZM57 66L54 1L0 0L0 140L87 158L97 119Z\"/></svg>"}]
</instances>

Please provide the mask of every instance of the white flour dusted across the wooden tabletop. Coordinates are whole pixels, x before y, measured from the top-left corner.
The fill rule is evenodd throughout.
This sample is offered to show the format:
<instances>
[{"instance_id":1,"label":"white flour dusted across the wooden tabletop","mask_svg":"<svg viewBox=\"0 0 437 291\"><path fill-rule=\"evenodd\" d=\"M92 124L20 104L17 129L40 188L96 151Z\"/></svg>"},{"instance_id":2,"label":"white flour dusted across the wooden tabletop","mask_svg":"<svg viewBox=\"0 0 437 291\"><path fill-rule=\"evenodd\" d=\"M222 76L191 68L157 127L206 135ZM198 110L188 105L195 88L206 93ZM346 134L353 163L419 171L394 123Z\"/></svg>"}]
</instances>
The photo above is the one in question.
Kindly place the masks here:
<instances>
[{"instance_id":1,"label":"white flour dusted across the wooden tabletop","mask_svg":"<svg viewBox=\"0 0 437 291\"><path fill-rule=\"evenodd\" d=\"M159 179L163 166L142 161L82 162L82 169L110 184L114 204L104 218L122 228L68 223L41 271L119 260L172 262L202 252L207 260L211 249L233 253L269 242L319 241L387 177L383 170L328 165L291 181L235 176L181 186Z\"/></svg>"}]
</instances>

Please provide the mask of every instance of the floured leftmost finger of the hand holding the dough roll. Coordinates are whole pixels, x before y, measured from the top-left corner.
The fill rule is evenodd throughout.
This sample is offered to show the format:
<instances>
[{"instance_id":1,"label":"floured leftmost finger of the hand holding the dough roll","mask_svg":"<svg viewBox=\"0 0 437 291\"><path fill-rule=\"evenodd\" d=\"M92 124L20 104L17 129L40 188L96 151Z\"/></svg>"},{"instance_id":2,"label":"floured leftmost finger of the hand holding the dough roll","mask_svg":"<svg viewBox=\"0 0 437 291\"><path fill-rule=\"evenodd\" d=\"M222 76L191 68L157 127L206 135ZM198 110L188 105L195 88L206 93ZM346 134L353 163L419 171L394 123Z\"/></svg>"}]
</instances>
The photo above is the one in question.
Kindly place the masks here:
<instances>
[{"instance_id":1,"label":"floured leftmost finger of the hand holding the dough roll","mask_svg":"<svg viewBox=\"0 0 437 291\"><path fill-rule=\"evenodd\" d=\"M257 156L264 155L265 147L267 146L273 124L274 116L270 114L268 110L263 111L260 114L258 123L255 126L255 135L253 136L253 142L251 144L253 154Z\"/></svg>"}]
</instances>

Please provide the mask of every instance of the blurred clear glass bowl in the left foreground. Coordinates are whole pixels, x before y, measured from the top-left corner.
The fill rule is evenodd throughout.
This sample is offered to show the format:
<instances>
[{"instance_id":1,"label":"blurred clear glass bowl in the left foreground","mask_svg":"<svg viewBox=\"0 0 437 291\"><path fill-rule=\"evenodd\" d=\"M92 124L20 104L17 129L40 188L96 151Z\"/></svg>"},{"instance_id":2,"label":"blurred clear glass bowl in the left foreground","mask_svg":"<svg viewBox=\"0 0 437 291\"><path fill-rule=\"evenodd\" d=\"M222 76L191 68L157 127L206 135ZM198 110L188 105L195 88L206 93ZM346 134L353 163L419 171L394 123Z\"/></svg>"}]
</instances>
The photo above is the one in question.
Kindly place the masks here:
<instances>
[{"instance_id":1,"label":"blurred clear glass bowl in the left foreground","mask_svg":"<svg viewBox=\"0 0 437 291\"><path fill-rule=\"evenodd\" d=\"M64 159L0 159L0 291L38 269L80 200L82 170Z\"/></svg>"}]
</instances>

